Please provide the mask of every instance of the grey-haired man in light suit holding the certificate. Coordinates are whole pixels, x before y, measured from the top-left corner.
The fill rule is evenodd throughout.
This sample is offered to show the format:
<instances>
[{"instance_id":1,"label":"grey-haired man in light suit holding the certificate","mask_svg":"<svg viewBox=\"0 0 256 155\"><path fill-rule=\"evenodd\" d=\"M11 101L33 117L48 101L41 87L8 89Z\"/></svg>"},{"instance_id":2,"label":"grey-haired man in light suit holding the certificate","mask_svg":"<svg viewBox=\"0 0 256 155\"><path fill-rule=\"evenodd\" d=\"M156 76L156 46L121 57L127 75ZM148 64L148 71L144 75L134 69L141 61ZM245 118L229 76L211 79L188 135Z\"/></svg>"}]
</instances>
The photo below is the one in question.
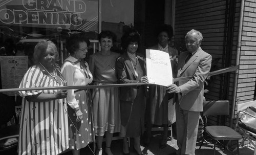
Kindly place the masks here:
<instances>
[{"instance_id":1,"label":"grey-haired man in light suit holding the certificate","mask_svg":"<svg viewBox=\"0 0 256 155\"><path fill-rule=\"evenodd\" d=\"M177 77L189 77L167 86L168 93L175 94L177 144L176 154L195 154L200 112L203 111L204 81L209 74L211 55L200 45L203 36L197 30L190 30L185 37L186 52L178 61Z\"/></svg>"}]
</instances>

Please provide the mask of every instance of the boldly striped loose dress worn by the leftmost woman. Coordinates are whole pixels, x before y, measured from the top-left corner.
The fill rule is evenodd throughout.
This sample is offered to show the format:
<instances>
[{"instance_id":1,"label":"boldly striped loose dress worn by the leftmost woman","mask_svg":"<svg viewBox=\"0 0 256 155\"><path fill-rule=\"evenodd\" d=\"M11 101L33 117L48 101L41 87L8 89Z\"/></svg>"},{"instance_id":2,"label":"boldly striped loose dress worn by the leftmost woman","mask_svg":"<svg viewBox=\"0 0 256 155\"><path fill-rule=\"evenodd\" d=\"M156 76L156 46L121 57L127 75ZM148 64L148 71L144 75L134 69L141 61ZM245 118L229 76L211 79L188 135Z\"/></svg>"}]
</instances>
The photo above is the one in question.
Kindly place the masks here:
<instances>
[{"instance_id":1,"label":"boldly striped loose dress worn by the leftmost woman","mask_svg":"<svg viewBox=\"0 0 256 155\"><path fill-rule=\"evenodd\" d=\"M25 74L20 88L62 86L63 77L57 67L61 81L50 77L37 65ZM23 96L20 120L18 154L59 154L69 148L68 116L62 99L49 102L29 102L26 96L39 93L56 93L58 90L19 92Z\"/></svg>"}]
</instances>

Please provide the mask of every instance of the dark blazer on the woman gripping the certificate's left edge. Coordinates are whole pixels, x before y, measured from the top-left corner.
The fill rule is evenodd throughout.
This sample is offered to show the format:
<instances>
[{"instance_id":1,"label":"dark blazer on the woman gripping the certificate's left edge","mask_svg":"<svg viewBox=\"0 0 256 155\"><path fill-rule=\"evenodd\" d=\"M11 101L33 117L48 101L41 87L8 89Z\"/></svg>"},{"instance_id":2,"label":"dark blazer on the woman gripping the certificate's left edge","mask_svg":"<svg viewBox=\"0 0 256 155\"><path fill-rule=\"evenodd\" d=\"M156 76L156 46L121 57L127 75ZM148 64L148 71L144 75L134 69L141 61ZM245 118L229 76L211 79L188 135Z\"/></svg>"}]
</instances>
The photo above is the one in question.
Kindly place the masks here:
<instances>
[{"instance_id":1,"label":"dark blazer on the woman gripping the certificate's left edge","mask_svg":"<svg viewBox=\"0 0 256 155\"><path fill-rule=\"evenodd\" d=\"M145 58L142 54L136 53L138 58L138 62L141 65L143 70L143 76L146 75L146 64ZM116 72L117 79L119 83L138 83L139 80L136 80L136 75L133 69L132 62L127 54L124 52L121 56L119 56L116 60ZM144 87L144 85L141 85ZM137 86L122 86L119 88L120 90L120 100L123 101L133 101L137 95Z\"/></svg>"}]
</instances>

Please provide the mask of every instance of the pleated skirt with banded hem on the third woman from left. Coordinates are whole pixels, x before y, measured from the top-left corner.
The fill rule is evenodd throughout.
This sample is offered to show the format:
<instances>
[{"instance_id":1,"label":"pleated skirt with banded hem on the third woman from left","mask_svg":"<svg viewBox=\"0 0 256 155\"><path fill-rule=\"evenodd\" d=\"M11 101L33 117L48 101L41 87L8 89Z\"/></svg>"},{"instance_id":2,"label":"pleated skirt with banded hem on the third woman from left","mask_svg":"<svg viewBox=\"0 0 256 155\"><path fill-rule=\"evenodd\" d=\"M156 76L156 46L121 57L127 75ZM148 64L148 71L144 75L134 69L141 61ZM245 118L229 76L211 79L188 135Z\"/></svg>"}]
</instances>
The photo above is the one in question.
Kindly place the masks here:
<instances>
[{"instance_id":1,"label":"pleated skirt with banded hem on the third woman from left","mask_svg":"<svg viewBox=\"0 0 256 155\"><path fill-rule=\"evenodd\" d=\"M116 84L116 82L94 82L94 85ZM93 89L93 121L96 136L105 131L120 132L119 88L105 87Z\"/></svg>"}]
</instances>

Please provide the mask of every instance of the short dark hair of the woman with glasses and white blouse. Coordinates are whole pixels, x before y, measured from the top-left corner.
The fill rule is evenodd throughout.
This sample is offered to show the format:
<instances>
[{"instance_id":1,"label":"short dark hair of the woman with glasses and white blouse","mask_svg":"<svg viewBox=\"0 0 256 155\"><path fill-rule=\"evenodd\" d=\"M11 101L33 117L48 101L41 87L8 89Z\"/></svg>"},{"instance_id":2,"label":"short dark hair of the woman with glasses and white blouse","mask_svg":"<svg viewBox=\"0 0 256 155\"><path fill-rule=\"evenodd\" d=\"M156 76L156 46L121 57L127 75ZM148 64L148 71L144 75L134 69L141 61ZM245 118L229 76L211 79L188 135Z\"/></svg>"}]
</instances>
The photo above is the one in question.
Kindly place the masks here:
<instances>
[{"instance_id":1,"label":"short dark hair of the woman with glasses and white blouse","mask_svg":"<svg viewBox=\"0 0 256 155\"><path fill-rule=\"evenodd\" d=\"M87 47L90 46L90 40L86 37L84 33L76 33L71 35L67 40L66 40L66 49L70 54L74 54L76 50L79 49L79 43L80 42L86 42Z\"/></svg>"}]
</instances>

